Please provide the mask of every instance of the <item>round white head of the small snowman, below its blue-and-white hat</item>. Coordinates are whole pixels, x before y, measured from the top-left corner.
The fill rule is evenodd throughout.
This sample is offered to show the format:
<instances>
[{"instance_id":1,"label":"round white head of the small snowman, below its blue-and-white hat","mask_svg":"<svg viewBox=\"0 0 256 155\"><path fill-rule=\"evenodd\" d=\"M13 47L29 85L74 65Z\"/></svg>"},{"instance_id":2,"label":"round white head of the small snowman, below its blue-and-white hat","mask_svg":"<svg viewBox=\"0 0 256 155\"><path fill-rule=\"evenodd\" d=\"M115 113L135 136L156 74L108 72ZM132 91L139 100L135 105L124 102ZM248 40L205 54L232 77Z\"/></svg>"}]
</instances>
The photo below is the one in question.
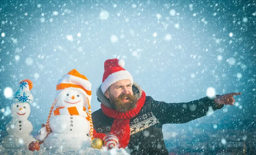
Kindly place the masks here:
<instances>
[{"instance_id":1,"label":"round white head of the small snowman, below its blue-and-white hat","mask_svg":"<svg viewBox=\"0 0 256 155\"><path fill-rule=\"evenodd\" d=\"M12 117L27 119L30 114L30 106L28 103L16 102L12 104Z\"/></svg>"}]
</instances>

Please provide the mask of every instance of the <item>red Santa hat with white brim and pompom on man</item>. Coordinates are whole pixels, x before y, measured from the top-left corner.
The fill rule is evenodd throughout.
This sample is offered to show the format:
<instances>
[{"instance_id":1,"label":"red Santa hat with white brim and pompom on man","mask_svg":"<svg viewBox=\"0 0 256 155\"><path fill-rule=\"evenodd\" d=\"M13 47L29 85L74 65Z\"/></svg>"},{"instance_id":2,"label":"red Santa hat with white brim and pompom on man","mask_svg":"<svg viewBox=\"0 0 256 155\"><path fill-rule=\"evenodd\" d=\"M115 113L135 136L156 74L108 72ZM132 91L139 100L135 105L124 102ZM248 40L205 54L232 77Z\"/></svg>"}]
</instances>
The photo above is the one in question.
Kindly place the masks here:
<instances>
[{"instance_id":1,"label":"red Santa hat with white brim and pompom on man","mask_svg":"<svg viewBox=\"0 0 256 155\"><path fill-rule=\"evenodd\" d=\"M123 59L108 59L104 63L104 74L102 78L101 90L105 93L113 83L118 82L120 80L128 79L133 84L133 78L131 73L125 70L123 67L125 65L125 61Z\"/></svg>"}]
</instances>

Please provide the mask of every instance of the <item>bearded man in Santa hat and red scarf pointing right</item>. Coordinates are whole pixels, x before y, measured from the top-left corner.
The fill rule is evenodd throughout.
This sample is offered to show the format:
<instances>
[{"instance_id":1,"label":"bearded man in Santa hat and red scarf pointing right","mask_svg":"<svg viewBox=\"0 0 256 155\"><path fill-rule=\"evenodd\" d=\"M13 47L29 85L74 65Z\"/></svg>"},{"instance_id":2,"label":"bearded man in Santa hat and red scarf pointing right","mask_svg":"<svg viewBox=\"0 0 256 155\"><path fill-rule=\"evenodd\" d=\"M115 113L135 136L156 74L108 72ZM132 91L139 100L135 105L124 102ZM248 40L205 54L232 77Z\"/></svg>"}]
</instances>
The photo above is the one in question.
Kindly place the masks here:
<instances>
[{"instance_id":1,"label":"bearded man in Santa hat and red scarf pointing right","mask_svg":"<svg viewBox=\"0 0 256 155\"><path fill-rule=\"evenodd\" d=\"M204 97L187 103L155 101L146 96L123 66L123 60L105 61L102 84L96 93L101 109L92 113L93 135L108 148L125 148L131 155L168 155L163 124L186 123L206 116L209 108L233 105L233 96L241 94Z\"/></svg>"}]
</instances>

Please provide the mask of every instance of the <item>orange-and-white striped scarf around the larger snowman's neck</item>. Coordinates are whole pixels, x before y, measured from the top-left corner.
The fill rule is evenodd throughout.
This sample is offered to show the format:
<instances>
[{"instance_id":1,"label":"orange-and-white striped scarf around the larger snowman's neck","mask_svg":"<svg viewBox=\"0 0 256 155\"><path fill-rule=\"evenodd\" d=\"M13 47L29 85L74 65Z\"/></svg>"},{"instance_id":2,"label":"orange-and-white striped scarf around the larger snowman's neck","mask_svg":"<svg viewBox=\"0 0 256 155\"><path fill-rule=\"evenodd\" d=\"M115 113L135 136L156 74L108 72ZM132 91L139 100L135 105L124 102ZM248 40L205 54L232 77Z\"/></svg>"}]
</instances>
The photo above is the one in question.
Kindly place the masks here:
<instances>
[{"instance_id":1,"label":"orange-and-white striped scarf around the larger snowman's neck","mask_svg":"<svg viewBox=\"0 0 256 155\"><path fill-rule=\"evenodd\" d=\"M53 115L79 115L85 117L87 121L90 121L85 107L55 107Z\"/></svg>"}]
</instances>

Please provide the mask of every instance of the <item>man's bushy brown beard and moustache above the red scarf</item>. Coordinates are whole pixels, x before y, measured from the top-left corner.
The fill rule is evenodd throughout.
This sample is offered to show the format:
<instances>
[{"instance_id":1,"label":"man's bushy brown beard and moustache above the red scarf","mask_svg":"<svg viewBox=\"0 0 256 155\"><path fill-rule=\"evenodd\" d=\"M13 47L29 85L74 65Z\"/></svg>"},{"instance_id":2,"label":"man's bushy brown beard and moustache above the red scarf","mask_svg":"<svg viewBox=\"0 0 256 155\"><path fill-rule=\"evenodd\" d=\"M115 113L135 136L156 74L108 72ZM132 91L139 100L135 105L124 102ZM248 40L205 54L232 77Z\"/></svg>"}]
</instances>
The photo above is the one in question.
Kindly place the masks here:
<instances>
[{"instance_id":1,"label":"man's bushy brown beard and moustache above the red scarf","mask_svg":"<svg viewBox=\"0 0 256 155\"><path fill-rule=\"evenodd\" d=\"M128 101L124 102L122 99L128 97ZM134 107L136 107L136 97L131 94L121 94L116 99L110 94L109 101L113 105L114 109L125 113L128 110L132 110Z\"/></svg>"}]
</instances>

